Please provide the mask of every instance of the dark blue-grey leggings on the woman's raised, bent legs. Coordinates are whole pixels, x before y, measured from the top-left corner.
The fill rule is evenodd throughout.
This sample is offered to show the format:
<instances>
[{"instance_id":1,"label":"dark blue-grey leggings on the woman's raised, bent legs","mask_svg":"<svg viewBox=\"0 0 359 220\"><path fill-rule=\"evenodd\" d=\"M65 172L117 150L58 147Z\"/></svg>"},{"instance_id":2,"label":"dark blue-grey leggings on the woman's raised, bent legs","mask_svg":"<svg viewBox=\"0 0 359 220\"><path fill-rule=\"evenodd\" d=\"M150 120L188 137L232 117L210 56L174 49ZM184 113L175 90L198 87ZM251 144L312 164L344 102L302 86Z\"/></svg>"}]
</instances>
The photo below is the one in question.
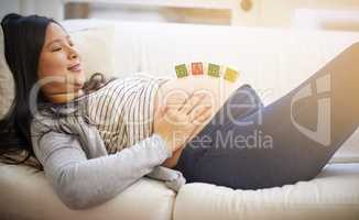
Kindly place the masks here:
<instances>
[{"instance_id":1,"label":"dark blue-grey leggings on the woman's raised, bent legs","mask_svg":"<svg viewBox=\"0 0 359 220\"><path fill-rule=\"evenodd\" d=\"M250 86L238 88L174 168L187 183L235 189L314 178L358 128L358 61L359 44L266 107Z\"/></svg>"}]
</instances>

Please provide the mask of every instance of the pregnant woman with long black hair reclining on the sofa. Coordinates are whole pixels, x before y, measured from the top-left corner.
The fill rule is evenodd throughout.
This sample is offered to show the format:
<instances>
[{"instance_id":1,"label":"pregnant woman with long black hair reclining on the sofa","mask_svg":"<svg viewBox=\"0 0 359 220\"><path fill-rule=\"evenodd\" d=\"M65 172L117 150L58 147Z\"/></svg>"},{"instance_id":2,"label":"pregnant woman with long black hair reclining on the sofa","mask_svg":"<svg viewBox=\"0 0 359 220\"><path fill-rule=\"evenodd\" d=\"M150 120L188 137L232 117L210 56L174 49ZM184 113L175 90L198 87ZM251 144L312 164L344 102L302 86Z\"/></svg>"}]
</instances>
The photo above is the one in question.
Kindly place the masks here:
<instances>
[{"instance_id":1,"label":"pregnant woman with long black hair reclining on the sofa","mask_svg":"<svg viewBox=\"0 0 359 220\"><path fill-rule=\"evenodd\" d=\"M15 131L24 144L13 147L35 155L72 209L100 205L144 175L175 190L182 175L242 189L308 180L358 128L357 45L264 107L250 86L210 76L85 81L57 22L8 14L1 25L17 92L1 148L11 150L4 134Z\"/></svg>"}]
</instances>

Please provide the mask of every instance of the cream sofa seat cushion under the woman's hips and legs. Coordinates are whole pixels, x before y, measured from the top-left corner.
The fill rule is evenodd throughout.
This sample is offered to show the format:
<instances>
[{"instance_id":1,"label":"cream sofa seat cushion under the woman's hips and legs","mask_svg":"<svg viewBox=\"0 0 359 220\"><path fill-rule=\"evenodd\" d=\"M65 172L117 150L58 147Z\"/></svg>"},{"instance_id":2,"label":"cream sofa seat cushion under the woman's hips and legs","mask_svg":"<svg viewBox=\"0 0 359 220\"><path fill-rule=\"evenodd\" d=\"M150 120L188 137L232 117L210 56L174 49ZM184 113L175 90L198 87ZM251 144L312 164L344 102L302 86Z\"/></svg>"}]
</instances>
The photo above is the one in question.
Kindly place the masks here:
<instances>
[{"instance_id":1,"label":"cream sofa seat cushion under the woman's hips and legs","mask_svg":"<svg viewBox=\"0 0 359 220\"><path fill-rule=\"evenodd\" d=\"M258 190L187 184L174 220L358 220L359 164L330 164L311 182Z\"/></svg>"}]
</instances>

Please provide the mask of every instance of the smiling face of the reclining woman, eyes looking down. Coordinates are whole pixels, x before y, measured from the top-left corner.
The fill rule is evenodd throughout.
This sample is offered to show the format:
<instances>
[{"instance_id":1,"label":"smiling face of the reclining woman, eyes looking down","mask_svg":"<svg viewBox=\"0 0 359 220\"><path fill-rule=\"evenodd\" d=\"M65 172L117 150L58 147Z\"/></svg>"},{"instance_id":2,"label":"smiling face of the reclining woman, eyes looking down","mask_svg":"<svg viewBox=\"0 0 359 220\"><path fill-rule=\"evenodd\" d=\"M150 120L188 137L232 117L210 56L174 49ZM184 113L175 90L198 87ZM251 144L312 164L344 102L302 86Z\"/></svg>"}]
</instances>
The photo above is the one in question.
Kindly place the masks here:
<instances>
[{"instance_id":1,"label":"smiling face of the reclining woman, eyes looking down","mask_svg":"<svg viewBox=\"0 0 359 220\"><path fill-rule=\"evenodd\" d=\"M85 82L78 51L63 28L53 22L46 29L37 76L46 97L79 92Z\"/></svg>"}]
</instances>

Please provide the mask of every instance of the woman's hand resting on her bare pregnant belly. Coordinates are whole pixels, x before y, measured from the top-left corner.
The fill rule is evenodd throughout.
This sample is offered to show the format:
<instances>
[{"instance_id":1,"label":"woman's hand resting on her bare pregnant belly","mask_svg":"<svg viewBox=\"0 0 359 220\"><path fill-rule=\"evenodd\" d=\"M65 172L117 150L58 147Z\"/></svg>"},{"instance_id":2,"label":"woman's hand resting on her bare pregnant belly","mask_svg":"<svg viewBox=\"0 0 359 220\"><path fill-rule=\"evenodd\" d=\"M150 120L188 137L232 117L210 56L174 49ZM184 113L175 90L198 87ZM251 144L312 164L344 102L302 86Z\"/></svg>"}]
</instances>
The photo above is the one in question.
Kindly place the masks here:
<instances>
[{"instance_id":1,"label":"woman's hand resting on her bare pregnant belly","mask_svg":"<svg viewBox=\"0 0 359 220\"><path fill-rule=\"evenodd\" d=\"M165 140L171 152L188 142L211 116L211 107L205 103L206 96L192 95L174 107L165 103L155 113L153 132Z\"/></svg>"}]
</instances>

